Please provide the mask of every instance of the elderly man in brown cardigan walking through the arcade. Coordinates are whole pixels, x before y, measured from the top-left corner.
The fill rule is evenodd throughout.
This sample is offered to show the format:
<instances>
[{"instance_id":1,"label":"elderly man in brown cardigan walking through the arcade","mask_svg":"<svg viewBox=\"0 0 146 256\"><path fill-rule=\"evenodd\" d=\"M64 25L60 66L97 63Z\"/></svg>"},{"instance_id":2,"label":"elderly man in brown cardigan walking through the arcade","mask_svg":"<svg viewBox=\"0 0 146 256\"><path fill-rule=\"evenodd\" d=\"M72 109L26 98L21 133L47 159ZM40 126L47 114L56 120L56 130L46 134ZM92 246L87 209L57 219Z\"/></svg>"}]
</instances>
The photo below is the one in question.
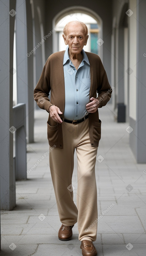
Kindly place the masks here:
<instances>
[{"instance_id":1,"label":"elderly man in brown cardigan walking through the arcade","mask_svg":"<svg viewBox=\"0 0 146 256\"><path fill-rule=\"evenodd\" d=\"M94 256L98 218L95 162L101 137L98 108L107 104L112 89L99 56L83 50L89 37L86 25L69 22L63 33L67 49L47 59L34 89L34 99L49 113L49 166L62 223L58 237L70 240L77 222L82 255ZM77 206L71 185L75 149Z\"/></svg>"}]
</instances>

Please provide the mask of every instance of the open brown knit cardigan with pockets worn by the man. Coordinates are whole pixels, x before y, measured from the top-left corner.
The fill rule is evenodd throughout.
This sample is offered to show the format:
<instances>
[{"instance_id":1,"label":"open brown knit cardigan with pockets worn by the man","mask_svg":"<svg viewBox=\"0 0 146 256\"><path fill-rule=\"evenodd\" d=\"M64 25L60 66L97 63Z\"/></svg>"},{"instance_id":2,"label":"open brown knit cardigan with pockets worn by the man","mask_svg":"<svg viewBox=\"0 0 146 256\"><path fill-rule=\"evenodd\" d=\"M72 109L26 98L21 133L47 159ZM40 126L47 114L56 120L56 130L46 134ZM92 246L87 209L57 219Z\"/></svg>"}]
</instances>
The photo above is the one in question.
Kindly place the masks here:
<instances>
[{"instance_id":1,"label":"open brown knit cardigan with pockets worn by the man","mask_svg":"<svg viewBox=\"0 0 146 256\"><path fill-rule=\"evenodd\" d=\"M64 52L56 52L49 56L34 89L34 99L38 106L45 109L48 113L49 106L51 105L59 107L61 112L64 113ZM97 98L100 101L99 107L102 107L109 101L112 88L109 85L106 71L99 56L90 52L86 52L86 54L90 62L90 98ZM49 100L50 91L51 98ZM60 117L63 117L63 114ZM99 120L98 110L95 113L89 113L89 133L91 145L98 146L101 138L101 121ZM55 144L57 148L63 149L62 125L56 123L50 116L47 122L47 136L50 146Z\"/></svg>"}]
</instances>

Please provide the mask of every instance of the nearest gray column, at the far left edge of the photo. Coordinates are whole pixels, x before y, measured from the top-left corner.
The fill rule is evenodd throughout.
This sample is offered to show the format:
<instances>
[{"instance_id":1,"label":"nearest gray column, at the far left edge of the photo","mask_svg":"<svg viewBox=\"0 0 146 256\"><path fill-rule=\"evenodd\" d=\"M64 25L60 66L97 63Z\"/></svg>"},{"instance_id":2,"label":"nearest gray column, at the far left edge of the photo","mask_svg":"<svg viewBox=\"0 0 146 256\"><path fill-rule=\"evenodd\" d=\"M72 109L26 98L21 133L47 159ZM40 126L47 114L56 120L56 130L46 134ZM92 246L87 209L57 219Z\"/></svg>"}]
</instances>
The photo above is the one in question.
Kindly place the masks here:
<instances>
[{"instance_id":1,"label":"nearest gray column, at the far left edge of the photo","mask_svg":"<svg viewBox=\"0 0 146 256\"><path fill-rule=\"evenodd\" d=\"M1 210L16 205L15 173L13 171L13 44L15 0L0 1L0 201Z\"/></svg>"}]
</instances>

